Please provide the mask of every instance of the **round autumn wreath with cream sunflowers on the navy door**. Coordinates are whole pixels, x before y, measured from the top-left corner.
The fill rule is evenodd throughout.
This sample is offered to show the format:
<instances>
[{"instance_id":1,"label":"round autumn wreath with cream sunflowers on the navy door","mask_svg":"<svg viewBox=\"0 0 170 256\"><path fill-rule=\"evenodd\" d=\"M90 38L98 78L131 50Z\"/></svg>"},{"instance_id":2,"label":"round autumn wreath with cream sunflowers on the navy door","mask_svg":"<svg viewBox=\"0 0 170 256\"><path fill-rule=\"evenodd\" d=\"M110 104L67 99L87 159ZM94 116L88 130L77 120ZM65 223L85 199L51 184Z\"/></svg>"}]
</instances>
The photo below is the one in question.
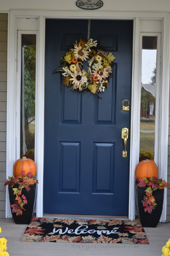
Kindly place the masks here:
<instances>
[{"instance_id":1,"label":"round autumn wreath with cream sunflowers on the navy door","mask_svg":"<svg viewBox=\"0 0 170 256\"><path fill-rule=\"evenodd\" d=\"M105 88L108 88L109 76L112 73L111 65L114 62L115 57L111 52L109 54L101 49L96 49L97 41L89 39L85 41L80 39L79 44L74 44L74 49L70 50L62 56L61 61L64 65L60 65L59 68L53 71L53 74L57 71L64 71L63 84L72 85L73 90L79 89L82 91L88 89L93 94L99 96L99 92L104 92ZM82 64L86 61L88 55L91 60L88 61L88 71L82 68ZM92 70L91 70L92 65Z\"/></svg>"}]
</instances>

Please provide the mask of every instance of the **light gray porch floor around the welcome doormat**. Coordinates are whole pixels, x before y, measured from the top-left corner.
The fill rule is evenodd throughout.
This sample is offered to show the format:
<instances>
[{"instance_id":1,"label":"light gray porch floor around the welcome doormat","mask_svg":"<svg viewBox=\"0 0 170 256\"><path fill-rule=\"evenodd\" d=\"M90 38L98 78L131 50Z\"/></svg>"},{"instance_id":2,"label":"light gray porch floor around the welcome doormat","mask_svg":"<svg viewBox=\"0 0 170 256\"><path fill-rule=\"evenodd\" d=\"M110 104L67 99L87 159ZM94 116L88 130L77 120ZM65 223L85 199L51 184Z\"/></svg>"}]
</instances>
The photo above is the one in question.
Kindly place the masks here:
<instances>
[{"instance_id":1,"label":"light gray porch floor around the welcome doormat","mask_svg":"<svg viewBox=\"0 0 170 256\"><path fill-rule=\"evenodd\" d=\"M156 228L144 228L148 244L81 244L51 242L21 242L27 225L17 225L14 220L0 219L0 237L7 239L10 256L161 256L162 247L170 238L170 223L159 223ZM96 248L94 248L96 245ZM108 245L108 246L107 246ZM84 248L83 248L84 246ZM98 247L97 247L98 246Z\"/></svg>"}]
</instances>

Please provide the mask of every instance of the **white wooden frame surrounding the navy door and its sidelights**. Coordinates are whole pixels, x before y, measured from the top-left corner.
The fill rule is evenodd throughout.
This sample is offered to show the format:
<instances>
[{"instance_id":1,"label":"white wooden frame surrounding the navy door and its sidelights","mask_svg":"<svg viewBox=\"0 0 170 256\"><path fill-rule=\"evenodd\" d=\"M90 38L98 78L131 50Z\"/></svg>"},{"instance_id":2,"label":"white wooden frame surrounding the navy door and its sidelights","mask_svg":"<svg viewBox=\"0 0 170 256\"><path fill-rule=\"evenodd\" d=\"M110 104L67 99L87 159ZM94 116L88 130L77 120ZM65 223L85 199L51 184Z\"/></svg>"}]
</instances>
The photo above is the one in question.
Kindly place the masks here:
<instances>
[{"instance_id":1,"label":"white wooden frame surrounding the navy door and its sidelights","mask_svg":"<svg viewBox=\"0 0 170 256\"><path fill-rule=\"evenodd\" d=\"M45 63L45 18L53 19L130 19L133 20L133 56L132 56L132 86L131 86L131 129L130 129L130 166L129 166L129 211L128 218L135 216L134 175L139 159L139 122L140 119L140 85L139 85L139 28L140 20L162 20L162 59L161 92L159 103L159 145L157 164L159 175L167 179L168 158L168 106L169 106L169 14L159 12L115 12L115 11L40 11L40 10L11 10L8 54L7 82L7 177L13 174L13 165L20 158L19 104L17 103L17 18L38 18L38 58L36 84L36 130L35 130L35 162L37 164L38 194L37 217L43 216L43 146L44 146L44 63ZM23 29L22 29L23 30ZM26 29L27 30L27 29ZM28 30L31 30L28 28ZM18 92L19 93L19 92ZM11 129L13 127L13 129ZM18 136L17 136L18 135ZM52 178L52 177L51 177ZM120 189L123 189L120 187ZM8 190L6 193L6 218L11 218ZM166 190L160 221L166 220Z\"/></svg>"}]
</instances>

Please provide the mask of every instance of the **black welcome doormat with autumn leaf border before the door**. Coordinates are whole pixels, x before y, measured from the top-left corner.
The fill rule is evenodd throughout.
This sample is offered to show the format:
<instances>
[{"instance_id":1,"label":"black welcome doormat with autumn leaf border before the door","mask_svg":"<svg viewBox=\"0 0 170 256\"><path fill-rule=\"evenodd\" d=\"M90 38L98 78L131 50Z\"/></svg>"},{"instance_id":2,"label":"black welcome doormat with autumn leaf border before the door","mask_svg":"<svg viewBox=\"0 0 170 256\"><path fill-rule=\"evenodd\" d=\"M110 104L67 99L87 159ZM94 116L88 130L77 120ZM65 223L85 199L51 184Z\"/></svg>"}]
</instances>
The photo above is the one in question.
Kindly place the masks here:
<instances>
[{"instance_id":1,"label":"black welcome doormat with autumn leaf border before the door","mask_svg":"<svg viewBox=\"0 0 170 256\"><path fill-rule=\"evenodd\" d=\"M77 220L33 217L21 241L149 244L139 220Z\"/></svg>"}]
</instances>

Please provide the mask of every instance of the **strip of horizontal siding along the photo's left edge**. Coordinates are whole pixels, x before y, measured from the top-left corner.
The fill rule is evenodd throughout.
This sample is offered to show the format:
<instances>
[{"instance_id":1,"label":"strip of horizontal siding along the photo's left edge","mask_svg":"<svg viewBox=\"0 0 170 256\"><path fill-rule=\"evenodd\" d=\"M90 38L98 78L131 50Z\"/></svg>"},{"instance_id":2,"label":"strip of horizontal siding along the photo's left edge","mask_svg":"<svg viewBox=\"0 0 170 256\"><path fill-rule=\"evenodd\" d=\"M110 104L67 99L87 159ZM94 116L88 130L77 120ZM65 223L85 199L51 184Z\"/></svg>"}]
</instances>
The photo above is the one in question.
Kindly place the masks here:
<instances>
[{"instance_id":1,"label":"strip of horizontal siding along the photo's left edge","mask_svg":"<svg viewBox=\"0 0 170 256\"><path fill-rule=\"evenodd\" d=\"M0 13L0 218L5 218L8 14Z\"/></svg>"}]
</instances>

